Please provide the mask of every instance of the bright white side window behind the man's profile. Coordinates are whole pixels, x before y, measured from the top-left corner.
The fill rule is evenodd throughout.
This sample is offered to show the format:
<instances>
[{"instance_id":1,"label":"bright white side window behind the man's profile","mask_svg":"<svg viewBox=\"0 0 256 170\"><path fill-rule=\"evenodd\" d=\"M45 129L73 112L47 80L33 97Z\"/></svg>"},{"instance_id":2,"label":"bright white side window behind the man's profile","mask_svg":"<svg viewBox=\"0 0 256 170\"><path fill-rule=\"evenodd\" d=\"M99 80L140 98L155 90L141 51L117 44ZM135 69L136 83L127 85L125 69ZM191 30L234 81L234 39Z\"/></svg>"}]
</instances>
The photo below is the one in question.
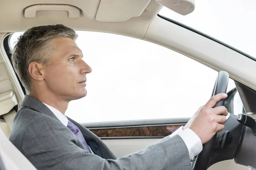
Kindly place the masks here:
<instances>
[{"instance_id":1,"label":"bright white side window behind the man's profile","mask_svg":"<svg viewBox=\"0 0 256 170\"><path fill-rule=\"evenodd\" d=\"M131 37L76 32L92 68L87 96L66 111L78 122L191 117L212 94L218 72L180 53Z\"/></svg>"}]
</instances>

